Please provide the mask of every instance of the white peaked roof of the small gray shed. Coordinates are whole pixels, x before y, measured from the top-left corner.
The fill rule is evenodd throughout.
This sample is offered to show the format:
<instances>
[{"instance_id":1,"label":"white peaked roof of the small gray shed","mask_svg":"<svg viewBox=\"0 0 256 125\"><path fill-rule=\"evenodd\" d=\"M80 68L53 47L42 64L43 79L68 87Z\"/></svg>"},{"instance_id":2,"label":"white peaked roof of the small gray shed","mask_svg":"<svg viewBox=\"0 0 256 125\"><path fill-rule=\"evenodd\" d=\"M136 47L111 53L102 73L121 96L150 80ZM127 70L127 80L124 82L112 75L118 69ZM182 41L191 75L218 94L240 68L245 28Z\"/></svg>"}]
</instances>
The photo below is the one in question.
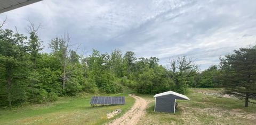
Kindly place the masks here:
<instances>
[{"instance_id":1,"label":"white peaked roof of the small gray shed","mask_svg":"<svg viewBox=\"0 0 256 125\"><path fill-rule=\"evenodd\" d=\"M190 100L186 95L182 95L180 93L176 93L176 92L173 92L173 91L167 91L167 92L159 93L159 94L156 94L154 97L169 98L168 95L173 95L171 97L173 99Z\"/></svg>"}]
</instances>

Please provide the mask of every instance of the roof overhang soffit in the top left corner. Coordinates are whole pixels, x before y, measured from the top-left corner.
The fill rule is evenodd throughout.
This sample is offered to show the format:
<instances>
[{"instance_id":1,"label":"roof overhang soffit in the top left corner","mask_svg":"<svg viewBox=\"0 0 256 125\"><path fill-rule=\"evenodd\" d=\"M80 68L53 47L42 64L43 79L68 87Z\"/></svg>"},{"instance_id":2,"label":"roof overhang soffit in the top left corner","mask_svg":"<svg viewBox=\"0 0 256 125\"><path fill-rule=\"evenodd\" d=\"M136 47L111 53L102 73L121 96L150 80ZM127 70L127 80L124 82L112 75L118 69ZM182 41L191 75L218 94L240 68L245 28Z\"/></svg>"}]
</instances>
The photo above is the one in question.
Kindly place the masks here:
<instances>
[{"instance_id":1,"label":"roof overhang soffit in the top left corner","mask_svg":"<svg viewBox=\"0 0 256 125\"><path fill-rule=\"evenodd\" d=\"M33 4L42 0L1 0L0 1L0 13L11 11L15 8Z\"/></svg>"}]
</instances>

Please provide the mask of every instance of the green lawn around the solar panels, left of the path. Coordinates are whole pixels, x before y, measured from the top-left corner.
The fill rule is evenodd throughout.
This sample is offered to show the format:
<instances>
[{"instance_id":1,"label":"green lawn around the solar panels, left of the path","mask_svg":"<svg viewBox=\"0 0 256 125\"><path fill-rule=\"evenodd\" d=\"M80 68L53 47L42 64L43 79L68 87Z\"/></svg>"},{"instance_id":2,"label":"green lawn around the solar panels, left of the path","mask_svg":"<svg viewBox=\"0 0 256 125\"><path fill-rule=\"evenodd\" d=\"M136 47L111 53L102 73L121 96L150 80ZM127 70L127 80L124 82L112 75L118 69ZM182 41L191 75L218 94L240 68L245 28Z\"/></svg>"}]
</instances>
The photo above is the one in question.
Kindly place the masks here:
<instances>
[{"instance_id":1,"label":"green lawn around the solar panels, left of the path","mask_svg":"<svg viewBox=\"0 0 256 125\"><path fill-rule=\"evenodd\" d=\"M120 117L131 108L134 99L130 92L113 96L125 96L125 105L90 105L91 94L79 97L63 97L56 102L27 105L23 108L0 109L0 124L102 124ZM109 95L110 96L110 95ZM116 109L122 112L107 119L107 113Z\"/></svg>"}]
</instances>

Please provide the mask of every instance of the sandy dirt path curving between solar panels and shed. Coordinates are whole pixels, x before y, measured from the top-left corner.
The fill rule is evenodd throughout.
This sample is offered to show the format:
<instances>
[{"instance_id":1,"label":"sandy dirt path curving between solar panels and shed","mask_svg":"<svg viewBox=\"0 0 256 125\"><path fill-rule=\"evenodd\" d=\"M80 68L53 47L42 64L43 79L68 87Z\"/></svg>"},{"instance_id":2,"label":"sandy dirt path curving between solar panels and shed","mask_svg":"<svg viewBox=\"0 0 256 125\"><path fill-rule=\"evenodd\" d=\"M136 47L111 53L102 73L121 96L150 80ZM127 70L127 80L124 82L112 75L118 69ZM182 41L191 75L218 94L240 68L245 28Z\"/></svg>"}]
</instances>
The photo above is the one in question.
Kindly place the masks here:
<instances>
[{"instance_id":1,"label":"sandy dirt path curving between solar panels and shed","mask_svg":"<svg viewBox=\"0 0 256 125\"><path fill-rule=\"evenodd\" d=\"M126 112L122 117L115 119L109 124L137 124L139 119L145 115L148 102L136 95L129 95L136 100L131 110Z\"/></svg>"}]
</instances>

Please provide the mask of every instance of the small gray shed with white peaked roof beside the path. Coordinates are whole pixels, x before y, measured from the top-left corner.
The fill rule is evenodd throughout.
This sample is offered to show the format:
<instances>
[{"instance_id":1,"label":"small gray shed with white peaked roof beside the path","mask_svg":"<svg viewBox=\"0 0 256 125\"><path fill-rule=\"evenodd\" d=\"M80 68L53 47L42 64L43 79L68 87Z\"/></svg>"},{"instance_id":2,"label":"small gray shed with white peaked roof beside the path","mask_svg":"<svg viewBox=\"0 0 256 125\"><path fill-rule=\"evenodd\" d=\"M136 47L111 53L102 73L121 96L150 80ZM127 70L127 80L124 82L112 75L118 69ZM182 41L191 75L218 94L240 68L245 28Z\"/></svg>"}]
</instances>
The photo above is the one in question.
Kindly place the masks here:
<instances>
[{"instance_id":1,"label":"small gray shed with white peaked roof beside the path","mask_svg":"<svg viewBox=\"0 0 256 125\"><path fill-rule=\"evenodd\" d=\"M175 113L176 100L189 100L186 95L168 91L156 94L155 96L155 110L157 112L171 112Z\"/></svg>"}]
</instances>

